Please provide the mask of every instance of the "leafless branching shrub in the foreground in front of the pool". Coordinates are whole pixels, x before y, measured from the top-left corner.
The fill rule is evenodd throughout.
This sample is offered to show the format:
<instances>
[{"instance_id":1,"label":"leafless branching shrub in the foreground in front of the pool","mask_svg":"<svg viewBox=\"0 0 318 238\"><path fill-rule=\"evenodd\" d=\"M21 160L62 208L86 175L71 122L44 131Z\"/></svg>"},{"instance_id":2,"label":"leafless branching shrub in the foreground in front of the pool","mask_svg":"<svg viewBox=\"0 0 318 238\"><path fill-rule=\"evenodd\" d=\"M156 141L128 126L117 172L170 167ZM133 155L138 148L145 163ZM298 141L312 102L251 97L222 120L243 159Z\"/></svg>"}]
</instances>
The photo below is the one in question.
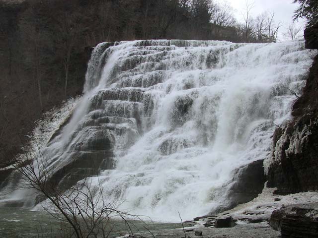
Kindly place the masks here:
<instances>
[{"instance_id":1,"label":"leafless branching shrub in the foreground in front of the pool","mask_svg":"<svg viewBox=\"0 0 318 238\"><path fill-rule=\"evenodd\" d=\"M127 218L137 218L118 210L117 201L108 202L104 197L101 181L97 176L98 184L92 185L92 179L86 178L79 181L69 190L63 191L57 183L51 179L54 169L48 164L48 158L40 150L34 152L25 148L23 158L14 163L14 168L22 176L24 189L34 189L37 195L46 200L42 202L43 208L55 219L66 224L64 232L71 228L69 237L109 237L110 233L117 229L112 218L123 219L132 234L133 226Z\"/></svg>"}]
</instances>

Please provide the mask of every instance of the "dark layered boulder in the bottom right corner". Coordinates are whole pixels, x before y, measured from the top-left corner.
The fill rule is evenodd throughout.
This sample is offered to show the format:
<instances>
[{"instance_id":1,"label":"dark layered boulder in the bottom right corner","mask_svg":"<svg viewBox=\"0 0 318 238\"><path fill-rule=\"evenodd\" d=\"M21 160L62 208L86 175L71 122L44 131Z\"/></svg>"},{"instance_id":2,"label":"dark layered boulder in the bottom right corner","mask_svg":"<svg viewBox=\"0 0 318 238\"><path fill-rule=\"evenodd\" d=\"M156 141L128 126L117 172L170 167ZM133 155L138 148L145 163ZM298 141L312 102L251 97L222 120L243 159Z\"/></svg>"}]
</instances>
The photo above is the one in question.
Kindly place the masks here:
<instances>
[{"instance_id":1,"label":"dark layered boulder in the bottom right corner","mask_svg":"<svg viewBox=\"0 0 318 238\"><path fill-rule=\"evenodd\" d=\"M290 205L272 213L270 225L282 238L318 237L318 203Z\"/></svg>"}]
</instances>

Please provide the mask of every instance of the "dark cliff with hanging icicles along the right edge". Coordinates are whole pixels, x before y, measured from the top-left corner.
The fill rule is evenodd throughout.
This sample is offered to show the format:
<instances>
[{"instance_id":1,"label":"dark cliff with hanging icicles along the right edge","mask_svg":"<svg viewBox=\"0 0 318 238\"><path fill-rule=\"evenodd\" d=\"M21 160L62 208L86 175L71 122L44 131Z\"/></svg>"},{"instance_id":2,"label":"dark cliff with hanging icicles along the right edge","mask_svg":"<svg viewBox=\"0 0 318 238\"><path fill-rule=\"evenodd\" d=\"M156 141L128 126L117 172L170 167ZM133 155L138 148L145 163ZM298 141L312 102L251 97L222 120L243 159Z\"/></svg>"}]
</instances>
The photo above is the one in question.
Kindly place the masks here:
<instances>
[{"instance_id":1,"label":"dark cliff with hanging icicles along the right edge","mask_svg":"<svg viewBox=\"0 0 318 238\"><path fill-rule=\"evenodd\" d=\"M318 49L318 23L305 30L307 49ZM309 70L303 95L293 105L293 118L273 137L268 187L278 194L318 189L318 55Z\"/></svg>"}]
</instances>

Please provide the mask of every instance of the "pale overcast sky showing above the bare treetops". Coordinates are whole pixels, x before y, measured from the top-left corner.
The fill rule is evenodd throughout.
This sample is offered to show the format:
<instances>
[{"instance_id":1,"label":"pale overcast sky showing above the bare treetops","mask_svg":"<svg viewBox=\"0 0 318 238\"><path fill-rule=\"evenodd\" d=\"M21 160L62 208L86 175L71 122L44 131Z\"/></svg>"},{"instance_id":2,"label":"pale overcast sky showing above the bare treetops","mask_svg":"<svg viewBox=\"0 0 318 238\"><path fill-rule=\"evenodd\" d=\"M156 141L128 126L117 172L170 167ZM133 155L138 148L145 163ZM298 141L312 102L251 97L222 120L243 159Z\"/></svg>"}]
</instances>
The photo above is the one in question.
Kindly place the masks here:
<instances>
[{"instance_id":1,"label":"pale overcast sky showing above the bare treetops","mask_svg":"<svg viewBox=\"0 0 318 238\"><path fill-rule=\"evenodd\" d=\"M219 0L222 2L223 0ZM243 21L242 11L246 8L245 0L228 0L233 8L235 17L239 22ZM248 0L249 3L254 2L254 7L251 10L251 15L255 17L256 15L262 13L263 11L274 11L275 12L275 22L282 22L283 26L280 28L280 33L282 34L286 31L286 27L292 22L294 11L298 7L298 4L292 3L293 0ZM299 26L305 25L305 20L300 20ZM282 38L282 36L280 36Z\"/></svg>"}]
</instances>

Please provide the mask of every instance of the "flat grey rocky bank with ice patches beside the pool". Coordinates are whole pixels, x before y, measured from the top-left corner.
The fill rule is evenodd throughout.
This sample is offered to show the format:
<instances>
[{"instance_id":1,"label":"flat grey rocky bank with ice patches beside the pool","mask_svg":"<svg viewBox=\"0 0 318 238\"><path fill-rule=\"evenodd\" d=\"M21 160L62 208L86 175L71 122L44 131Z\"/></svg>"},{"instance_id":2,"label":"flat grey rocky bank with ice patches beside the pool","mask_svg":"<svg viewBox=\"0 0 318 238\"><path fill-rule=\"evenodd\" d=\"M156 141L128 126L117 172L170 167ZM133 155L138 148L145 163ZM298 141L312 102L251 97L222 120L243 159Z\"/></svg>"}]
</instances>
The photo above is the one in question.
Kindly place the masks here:
<instances>
[{"instance_id":1,"label":"flat grey rocky bank with ice patches beside the pool","mask_svg":"<svg viewBox=\"0 0 318 238\"><path fill-rule=\"evenodd\" d=\"M283 224L282 228L283 217L277 219L277 215L275 215L273 218L273 212L277 213L277 211L288 207L315 204L318 201L318 191L284 196L275 194L275 191L275 188L264 188L257 198L248 203L240 204L234 209L217 215L194 218L193 221L185 221L183 223L184 229L159 230L152 231L152 233L141 232L135 234L135 238L281 238L282 235L289 237L288 234L286 236L286 230L290 230L291 227L288 227L288 224ZM311 213L313 215L315 211ZM304 224L303 218L296 212L295 215L298 218L291 226L296 227L297 231L301 232L300 237L306 237L307 226L311 226L311 224ZM316 224L315 221L314 223ZM129 235L124 237L129 237Z\"/></svg>"}]
</instances>

